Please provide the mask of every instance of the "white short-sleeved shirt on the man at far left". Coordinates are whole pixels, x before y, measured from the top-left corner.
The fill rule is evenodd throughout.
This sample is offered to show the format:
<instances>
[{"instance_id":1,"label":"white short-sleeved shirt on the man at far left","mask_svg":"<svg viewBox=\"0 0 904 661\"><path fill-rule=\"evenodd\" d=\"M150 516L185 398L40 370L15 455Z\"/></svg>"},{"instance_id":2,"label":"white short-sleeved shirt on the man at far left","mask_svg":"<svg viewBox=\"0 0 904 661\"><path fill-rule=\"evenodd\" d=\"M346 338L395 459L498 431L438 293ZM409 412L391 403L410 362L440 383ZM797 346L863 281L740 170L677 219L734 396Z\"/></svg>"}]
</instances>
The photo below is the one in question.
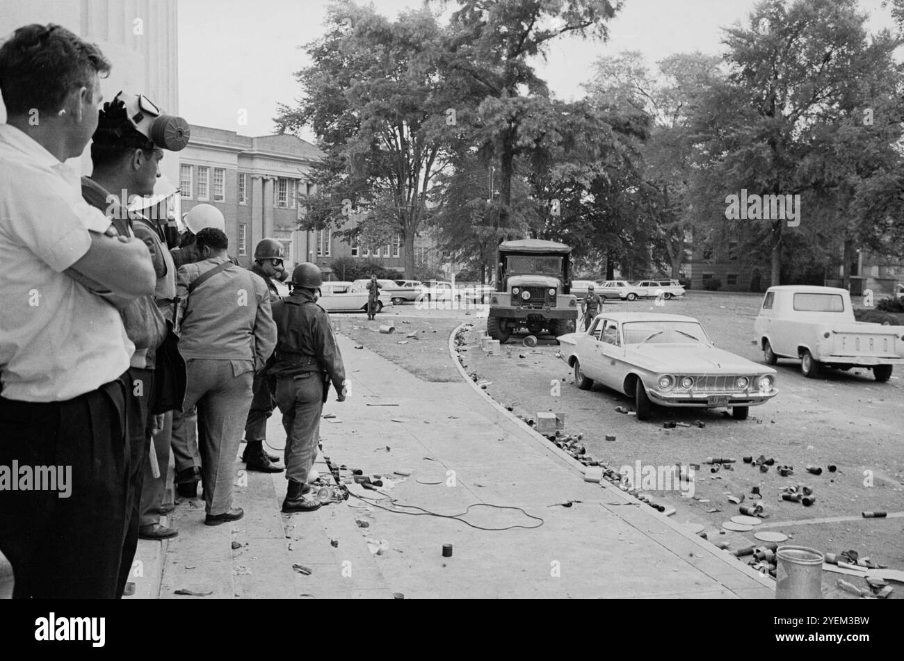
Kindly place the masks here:
<instances>
[{"instance_id":1,"label":"white short-sleeved shirt on the man at far left","mask_svg":"<svg viewBox=\"0 0 904 661\"><path fill-rule=\"evenodd\" d=\"M128 368L119 312L63 271L109 219L81 197L79 173L0 125L0 377L6 399L59 402Z\"/></svg>"}]
</instances>

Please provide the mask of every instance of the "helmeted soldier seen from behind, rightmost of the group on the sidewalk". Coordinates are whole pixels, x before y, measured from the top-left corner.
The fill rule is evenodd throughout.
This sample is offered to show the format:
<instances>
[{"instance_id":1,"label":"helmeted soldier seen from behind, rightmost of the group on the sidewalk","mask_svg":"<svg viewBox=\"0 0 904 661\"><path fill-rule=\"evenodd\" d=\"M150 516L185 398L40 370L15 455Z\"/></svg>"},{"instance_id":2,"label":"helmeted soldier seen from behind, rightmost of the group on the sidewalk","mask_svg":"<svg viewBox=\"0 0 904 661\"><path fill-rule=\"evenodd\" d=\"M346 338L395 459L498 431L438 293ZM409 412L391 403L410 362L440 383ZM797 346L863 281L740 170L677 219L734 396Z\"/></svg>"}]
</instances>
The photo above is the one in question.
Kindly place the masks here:
<instances>
[{"instance_id":1,"label":"helmeted soldier seen from behind, rightmost of the group on the sidewalk","mask_svg":"<svg viewBox=\"0 0 904 661\"><path fill-rule=\"evenodd\" d=\"M277 323L275 364L268 373L276 378L277 405L286 429L284 512L310 512L320 503L304 495L311 490L308 474L317 456L320 414L330 383L337 401L345 400L345 368L329 317L316 304L323 276L315 264L305 262L292 272L292 293L273 305Z\"/></svg>"}]
</instances>

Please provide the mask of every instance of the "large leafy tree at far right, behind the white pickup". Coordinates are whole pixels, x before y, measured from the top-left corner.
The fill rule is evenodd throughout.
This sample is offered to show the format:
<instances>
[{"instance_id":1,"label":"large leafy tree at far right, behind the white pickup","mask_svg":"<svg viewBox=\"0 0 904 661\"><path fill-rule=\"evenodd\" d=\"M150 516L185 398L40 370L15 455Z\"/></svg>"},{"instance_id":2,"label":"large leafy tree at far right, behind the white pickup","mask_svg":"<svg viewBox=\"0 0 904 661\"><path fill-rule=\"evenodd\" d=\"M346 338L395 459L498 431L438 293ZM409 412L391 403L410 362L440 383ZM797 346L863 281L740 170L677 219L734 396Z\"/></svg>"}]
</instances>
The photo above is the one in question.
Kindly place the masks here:
<instances>
[{"instance_id":1,"label":"large leafy tree at far right, behind the white pickup","mask_svg":"<svg viewBox=\"0 0 904 661\"><path fill-rule=\"evenodd\" d=\"M890 116L899 41L886 32L870 42L864 21L854 0L758 4L748 27L727 31L729 78L695 112L694 188L704 217L718 219L722 200L742 189L802 200L800 228L767 219L751 231L751 252L768 252L772 284L782 281L783 262L809 259L791 251L789 235L794 250L818 252L839 236L851 249L864 228L900 209L877 194L890 179L900 190L899 116ZM880 129L864 126L865 111L878 107Z\"/></svg>"}]
</instances>

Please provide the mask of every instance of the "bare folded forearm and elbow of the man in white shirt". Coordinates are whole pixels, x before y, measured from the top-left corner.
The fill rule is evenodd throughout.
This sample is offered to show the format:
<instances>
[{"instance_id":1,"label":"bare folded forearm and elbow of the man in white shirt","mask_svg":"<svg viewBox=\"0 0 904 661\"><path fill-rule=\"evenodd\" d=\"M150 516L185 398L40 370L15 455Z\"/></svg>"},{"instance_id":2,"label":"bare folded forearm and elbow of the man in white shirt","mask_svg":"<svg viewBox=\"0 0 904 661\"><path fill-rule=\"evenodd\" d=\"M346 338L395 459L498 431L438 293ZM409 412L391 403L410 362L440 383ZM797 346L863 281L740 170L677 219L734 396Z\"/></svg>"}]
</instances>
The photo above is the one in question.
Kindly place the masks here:
<instances>
[{"instance_id":1,"label":"bare folded forearm and elbow of the man in white shirt","mask_svg":"<svg viewBox=\"0 0 904 661\"><path fill-rule=\"evenodd\" d=\"M154 264L144 241L98 232L89 235L91 246L71 265L71 271L123 298L136 299L154 293Z\"/></svg>"}]
</instances>

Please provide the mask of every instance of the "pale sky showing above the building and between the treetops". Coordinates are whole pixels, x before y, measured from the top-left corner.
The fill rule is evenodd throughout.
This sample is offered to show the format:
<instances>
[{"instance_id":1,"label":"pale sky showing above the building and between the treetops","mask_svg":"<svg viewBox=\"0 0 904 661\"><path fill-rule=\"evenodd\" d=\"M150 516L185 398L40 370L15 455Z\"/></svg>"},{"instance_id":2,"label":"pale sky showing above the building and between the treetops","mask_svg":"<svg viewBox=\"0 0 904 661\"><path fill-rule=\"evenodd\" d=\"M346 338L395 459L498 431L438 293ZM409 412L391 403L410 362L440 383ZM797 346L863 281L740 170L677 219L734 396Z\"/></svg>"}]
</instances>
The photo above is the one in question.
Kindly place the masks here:
<instances>
[{"instance_id":1,"label":"pale sky showing above the building and between the treetops","mask_svg":"<svg viewBox=\"0 0 904 661\"><path fill-rule=\"evenodd\" d=\"M359 2L358 4L364 4ZM376 0L395 18L418 0ZM308 64L299 46L324 32L327 3L317 0L179 0L179 113L191 124L237 131L275 132L278 103L294 105L294 73ZM454 6L454 3L450 4ZM575 37L553 42L537 70L563 100L583 96L593 62L640 51L651 68L678 52L719 54L722 28L746 21L756 0L625 0L608 23L609 40ZM860 0L871 31L890 26L881 0ZM303 135L313 141L314 135Z\"/></svg>"}]
</instances>

